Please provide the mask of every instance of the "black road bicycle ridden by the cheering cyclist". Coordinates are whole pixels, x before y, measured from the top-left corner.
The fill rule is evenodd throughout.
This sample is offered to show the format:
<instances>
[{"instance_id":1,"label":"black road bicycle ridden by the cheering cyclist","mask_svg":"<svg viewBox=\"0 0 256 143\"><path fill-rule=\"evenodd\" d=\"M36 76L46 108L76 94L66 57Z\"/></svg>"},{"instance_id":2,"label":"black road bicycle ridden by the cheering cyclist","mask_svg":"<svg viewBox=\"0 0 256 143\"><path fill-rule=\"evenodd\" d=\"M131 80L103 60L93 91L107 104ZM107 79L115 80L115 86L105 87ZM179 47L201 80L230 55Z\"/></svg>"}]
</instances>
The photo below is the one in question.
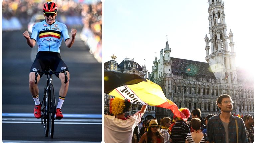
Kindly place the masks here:
<instances>
[{"instance_id":1,"label":"black road bicycle ridden by the cheering cyclist","mask_svg":"<svg viewBox=\"0 0 256 143\"><path fill-rule=\"evenodd\" d=\"M37 70L35 72L35 84L37 84L37 77L40 73L44 73L47 75L46 78L46 85L44 88L44 97L41 102L41 124L44 126L44 132L45 136L48 137L48 133L50 131L50 136L53 138L53 132L54 132L54 120L56 119L56 101L55 101L55 95L54 95L54 89L53 89L53 74L55 73L64 73L65 74L65 81L64 83L67 83L67 73L65 70L61 72L54 72L52 70L49 70L48 72L41 72L40 70Z\"/></svg>"}]
</instances>

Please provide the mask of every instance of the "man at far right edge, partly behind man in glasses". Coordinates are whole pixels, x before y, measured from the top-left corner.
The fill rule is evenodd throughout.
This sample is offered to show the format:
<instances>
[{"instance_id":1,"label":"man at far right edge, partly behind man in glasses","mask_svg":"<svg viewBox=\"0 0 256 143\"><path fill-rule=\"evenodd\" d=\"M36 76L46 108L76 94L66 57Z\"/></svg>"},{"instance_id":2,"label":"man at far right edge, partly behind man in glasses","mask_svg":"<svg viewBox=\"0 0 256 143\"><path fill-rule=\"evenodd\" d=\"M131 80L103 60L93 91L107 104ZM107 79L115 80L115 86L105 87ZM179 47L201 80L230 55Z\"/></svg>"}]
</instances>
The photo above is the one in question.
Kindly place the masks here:
<instances>
[{"instance_id":1,"label":"man at far right edge, partly behind man in glasses","mask_svg":"<svg viewBox=\"0 0 256 143\"><path fill-rule=\"evenodd\" d=\"M243 117L245 128L246 128L246 135L248 138L249 143L253 143L254 141L254 119L249 115L245 115Z\"/></svg>"}]
</instances>

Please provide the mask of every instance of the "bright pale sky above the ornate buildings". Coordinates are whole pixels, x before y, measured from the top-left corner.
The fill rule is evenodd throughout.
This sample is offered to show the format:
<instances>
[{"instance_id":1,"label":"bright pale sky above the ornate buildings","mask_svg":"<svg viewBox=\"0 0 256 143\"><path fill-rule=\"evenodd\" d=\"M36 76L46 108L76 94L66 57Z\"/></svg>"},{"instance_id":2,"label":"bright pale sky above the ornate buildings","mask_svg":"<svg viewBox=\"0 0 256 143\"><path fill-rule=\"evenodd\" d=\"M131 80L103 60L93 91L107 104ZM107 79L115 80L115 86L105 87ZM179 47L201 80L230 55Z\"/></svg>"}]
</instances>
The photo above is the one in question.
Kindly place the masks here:
<instances>
[{"instance_id":1,"label":"bright pale sky above the ornate buildings","mask_svg":"<svg viewBox=\"0 0 256 143\"><path fill-rule=\"evenodd\" d=\"M234 34L236 66L248 68L255 61L256 1L223 1L226 32L228 35L231 29ZM210 38L207 7L208 0L105 0L103 63L113 54L118 63L127 57L143 66L145 59L148 72L152 72L155 55L159 59L166 39L171 57L206 62L205 34Z\"/></svg>"}]
</instances>

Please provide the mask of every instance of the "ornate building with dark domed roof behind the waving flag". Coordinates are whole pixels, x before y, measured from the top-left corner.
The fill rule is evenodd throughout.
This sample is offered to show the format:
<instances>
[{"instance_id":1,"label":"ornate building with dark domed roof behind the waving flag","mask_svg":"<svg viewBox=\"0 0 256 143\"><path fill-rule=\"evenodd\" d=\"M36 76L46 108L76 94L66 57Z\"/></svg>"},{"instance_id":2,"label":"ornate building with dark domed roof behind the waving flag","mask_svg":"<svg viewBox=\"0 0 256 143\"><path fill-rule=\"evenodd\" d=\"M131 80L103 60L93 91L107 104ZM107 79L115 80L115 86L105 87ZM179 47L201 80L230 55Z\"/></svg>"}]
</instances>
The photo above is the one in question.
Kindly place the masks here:
<instances>
[{"instance_id":1,"label":"ornate building with dark domed roof behind the waving flag","mask_svg":"<svg viewBox=\"0 0 256 143\"><path fill-rule=\"evenodd\" d=\"M134 59L125 58L120 64L116 62L116 56L111 56L112 60L104 63L104 70L107 71L116 71L122 73L130 73L136 74L143 78L147 78L148 70L146 69L146 65L140 66ZM112 96L104 93L104 114L107 114L109 111L109 101ZM134 114L140 111L142 105L132 104L132 109L129 113L126 114ZM155 107L148 106L146 113L143 115L142 120L144 119L153 119L155 117Z\"/></svg>"}]
</instances>

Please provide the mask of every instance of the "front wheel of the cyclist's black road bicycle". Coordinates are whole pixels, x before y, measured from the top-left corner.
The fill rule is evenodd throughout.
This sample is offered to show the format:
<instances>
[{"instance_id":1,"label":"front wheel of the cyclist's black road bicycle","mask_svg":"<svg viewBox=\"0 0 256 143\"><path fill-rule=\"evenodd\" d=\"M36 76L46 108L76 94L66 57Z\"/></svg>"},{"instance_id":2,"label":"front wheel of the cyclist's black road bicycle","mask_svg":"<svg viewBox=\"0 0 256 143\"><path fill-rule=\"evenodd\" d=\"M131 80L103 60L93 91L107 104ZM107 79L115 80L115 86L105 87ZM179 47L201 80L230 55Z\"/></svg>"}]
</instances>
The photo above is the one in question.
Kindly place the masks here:
<instances>
[{"instance_id":1,"label":"front wheel of the cyclist's black road bicycle","mask_svg":"<svg viewBox=\"0 0 256 143\"><path fill-rule=\"evenodd\" d=\"M54 120L55 120L55 111L56 111L56 104L55 104L55 96L54 96L54 89L53 89L53 85L49 85L48 87L48 95L49 96L49 130L50 130L50 136L51 138L53 138L53 134L54 134Z\"/></svg>"}]
</instances>

